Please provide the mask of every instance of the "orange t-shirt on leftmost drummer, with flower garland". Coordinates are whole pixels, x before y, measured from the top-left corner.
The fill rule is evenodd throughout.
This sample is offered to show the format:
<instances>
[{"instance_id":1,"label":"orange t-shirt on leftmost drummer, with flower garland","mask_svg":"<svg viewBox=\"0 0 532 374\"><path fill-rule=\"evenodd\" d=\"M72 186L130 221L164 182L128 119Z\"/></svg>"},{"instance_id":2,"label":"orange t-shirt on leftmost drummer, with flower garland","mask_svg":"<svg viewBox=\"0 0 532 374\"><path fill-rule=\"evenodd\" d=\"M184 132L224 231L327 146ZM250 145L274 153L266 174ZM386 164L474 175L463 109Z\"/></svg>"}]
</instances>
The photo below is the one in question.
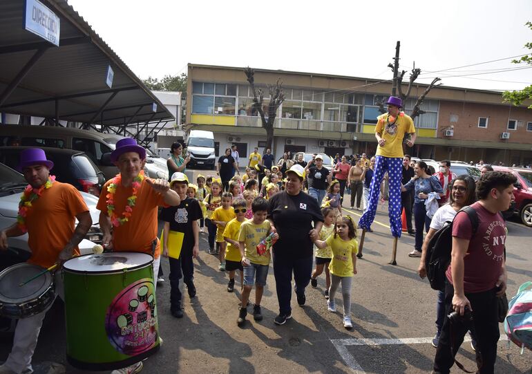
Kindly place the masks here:
<instances>
[{"instance_id":1,"label":"orange t-shirt on leftmost drummer, with flower garland","mask_svg":"<svg viewBox=\"0 0 532 374\"><path fill-rule=\"evenodd\" d=\"M73 185L54 182L32 202L26 215L28 263L49 268L70 241L75 230L75 216L88 212L88 207ZM79 255L77 247L74 253Z\"/></svg>"}]
</instances>

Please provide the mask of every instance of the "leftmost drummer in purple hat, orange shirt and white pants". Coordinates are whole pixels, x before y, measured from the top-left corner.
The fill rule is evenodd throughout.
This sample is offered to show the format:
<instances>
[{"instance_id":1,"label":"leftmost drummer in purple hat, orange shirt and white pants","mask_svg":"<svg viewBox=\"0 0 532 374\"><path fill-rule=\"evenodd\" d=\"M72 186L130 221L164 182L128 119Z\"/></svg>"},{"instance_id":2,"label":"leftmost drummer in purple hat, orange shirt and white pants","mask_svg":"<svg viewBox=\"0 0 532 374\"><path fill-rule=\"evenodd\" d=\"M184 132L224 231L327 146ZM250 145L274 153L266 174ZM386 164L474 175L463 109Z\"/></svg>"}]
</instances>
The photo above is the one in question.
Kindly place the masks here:
<instances>
[{"instance_id":1,"label":"leftmost drummer in purple hat, orange shirt and white pants","mask_svg":"<svg viewBox=\"0 0 532 374\"><path fill-rule=\"evenodd\" d=\"M28 263L43 268L63 263L73 254L79 254L77 245L93 223L79 191L73 185L59 183L55 181L55 176L50 176L53 166L42 149L21 151L19 169L30 185L21 196L23 204L17 223L0 231L0 250L8 248L8 236L20 236L28 232L28 245L32 252ZM75 218L79 221L77 226ZM60 272L55 273L55 290L55 296L62 298ZM0 365L0 373L32 373L32 356L46 311L19 319L11 353L6 362ZM64 366L52 363L47 373L64 371Z\"/></svg>"}]
</instances>

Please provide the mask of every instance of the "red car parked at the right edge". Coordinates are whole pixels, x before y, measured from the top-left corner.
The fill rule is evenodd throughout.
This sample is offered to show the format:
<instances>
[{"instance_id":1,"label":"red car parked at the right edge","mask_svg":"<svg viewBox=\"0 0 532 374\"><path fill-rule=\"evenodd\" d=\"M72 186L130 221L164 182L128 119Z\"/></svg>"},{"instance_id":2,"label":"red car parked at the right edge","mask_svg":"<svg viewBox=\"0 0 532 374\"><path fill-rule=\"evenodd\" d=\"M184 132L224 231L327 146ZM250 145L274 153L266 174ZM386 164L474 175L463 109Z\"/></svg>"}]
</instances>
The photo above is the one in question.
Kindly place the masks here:
<instances>
[{"instance_id":1,"label":"red car parked at the right edge","mask_svg":"<svg viewBox=\"0 0 532 374\"><path fill-rule=\"evenodd\" d=\"M493 166L493 170L511 173L517 182L513 185L515 206L513 213L518 214L522 223L532 227L532 169Z\"/></svg>"}]
</instances>

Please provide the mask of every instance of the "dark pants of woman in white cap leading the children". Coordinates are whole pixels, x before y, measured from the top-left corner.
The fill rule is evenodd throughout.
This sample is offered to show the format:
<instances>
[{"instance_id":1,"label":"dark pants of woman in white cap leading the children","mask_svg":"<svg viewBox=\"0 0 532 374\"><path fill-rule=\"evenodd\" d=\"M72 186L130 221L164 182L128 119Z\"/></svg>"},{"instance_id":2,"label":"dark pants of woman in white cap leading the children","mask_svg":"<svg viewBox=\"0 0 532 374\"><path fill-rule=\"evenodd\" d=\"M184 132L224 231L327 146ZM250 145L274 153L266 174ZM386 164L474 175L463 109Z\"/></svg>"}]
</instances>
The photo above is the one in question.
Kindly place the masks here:
<instances>
[{"instance_id":1,"label":"dark pants of woman in white cap leading the children","mask_svg":"<svg viewBox=\"0 0 532 374\"><path fill-rule=\"evenodd\" d=\"M279 302L279 314L288 315L292 311L290 300L292 299L292 272L296 282L296 294L305 294L305 287L310 283L312 274L312 254L303 259L282 255L283 248L274 254L274 277Z\"/></svg>"}]
</instances>

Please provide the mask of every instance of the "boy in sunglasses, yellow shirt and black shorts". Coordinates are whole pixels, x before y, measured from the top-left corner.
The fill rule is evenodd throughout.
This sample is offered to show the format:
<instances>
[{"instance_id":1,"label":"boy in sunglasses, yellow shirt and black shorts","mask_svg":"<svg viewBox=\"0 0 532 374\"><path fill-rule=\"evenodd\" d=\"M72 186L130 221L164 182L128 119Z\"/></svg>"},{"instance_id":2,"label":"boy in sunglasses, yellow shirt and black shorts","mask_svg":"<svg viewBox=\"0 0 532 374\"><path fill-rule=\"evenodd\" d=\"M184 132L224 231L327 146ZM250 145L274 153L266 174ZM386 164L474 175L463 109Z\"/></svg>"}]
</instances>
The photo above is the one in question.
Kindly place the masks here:
<instances>
[{"instance_id":1,"label":"boy in sunglasses, yellow shirt and black shorts","mask_svg":"<svg viewBox=\"0 0 532 374\"><path fill-rule=\"evenodd\" d=\"M224 239L227 243L225 250L225 271L229 272L229 283L227 283L227 292L233 292L235 288L235 270L240 273L240 286L244 283L244 269L242 267L242 256L240 256L240 244L238 243L238 233L240 225L246 221L246 201L242 198L233 200L233 209L236 218L231 219L225 226Z\"/></svg>"}]
</instances>

